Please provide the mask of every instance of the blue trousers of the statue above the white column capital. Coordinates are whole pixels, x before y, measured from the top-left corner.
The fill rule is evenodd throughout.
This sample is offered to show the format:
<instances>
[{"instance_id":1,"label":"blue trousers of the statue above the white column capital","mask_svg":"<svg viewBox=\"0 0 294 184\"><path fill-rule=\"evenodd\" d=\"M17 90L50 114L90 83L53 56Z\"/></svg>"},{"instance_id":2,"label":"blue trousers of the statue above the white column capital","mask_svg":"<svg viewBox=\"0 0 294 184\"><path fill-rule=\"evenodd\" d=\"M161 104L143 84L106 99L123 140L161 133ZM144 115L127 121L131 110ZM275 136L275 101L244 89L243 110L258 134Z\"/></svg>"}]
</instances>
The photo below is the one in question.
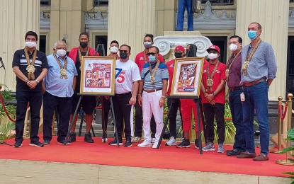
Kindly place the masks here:
<instances>
[{"instance_id":1,"label":"blue trousers of the statue above the white column capital","mask_svg":"<svg viewBox=\"0 0 294 184\"><path fill-rule=\"evenodd\" d=\"M179 0L178 14L176 18L176 30L183 30L183 16L185 15L185 8L187 8L188 13L188 31L193 31L192 0Z\"/></svg>"}]
</instances>

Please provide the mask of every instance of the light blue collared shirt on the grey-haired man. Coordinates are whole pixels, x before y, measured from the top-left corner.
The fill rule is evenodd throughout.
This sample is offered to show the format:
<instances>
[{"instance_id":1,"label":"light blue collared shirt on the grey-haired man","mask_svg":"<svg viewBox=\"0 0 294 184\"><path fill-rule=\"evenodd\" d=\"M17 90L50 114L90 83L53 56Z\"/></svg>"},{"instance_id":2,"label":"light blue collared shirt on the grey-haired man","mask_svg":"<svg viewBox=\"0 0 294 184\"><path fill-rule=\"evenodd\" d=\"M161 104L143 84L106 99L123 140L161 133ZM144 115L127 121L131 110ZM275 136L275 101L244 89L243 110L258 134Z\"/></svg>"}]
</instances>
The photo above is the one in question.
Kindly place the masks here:
<instances>
[{"instance_id":1,"label":"light blue collared shirt on the grey-haired man","mask_svg":"<svg viewBox=\"0 0 294 184\"><path fill-rule=\"evenodd\" d=\"M60 60L62 67L64 66L64 59L56 55ZM67 57L67 79L64 77L60 78L60 65L57 63L53 54L47 56L48 60L48 74L45 77L45 88L46 91L53 96L58 97L71 97L74 94L74 89L72 84L74 81L74 76L77 76L77 69L74 61Z\"/></svg>"}]
</instances>

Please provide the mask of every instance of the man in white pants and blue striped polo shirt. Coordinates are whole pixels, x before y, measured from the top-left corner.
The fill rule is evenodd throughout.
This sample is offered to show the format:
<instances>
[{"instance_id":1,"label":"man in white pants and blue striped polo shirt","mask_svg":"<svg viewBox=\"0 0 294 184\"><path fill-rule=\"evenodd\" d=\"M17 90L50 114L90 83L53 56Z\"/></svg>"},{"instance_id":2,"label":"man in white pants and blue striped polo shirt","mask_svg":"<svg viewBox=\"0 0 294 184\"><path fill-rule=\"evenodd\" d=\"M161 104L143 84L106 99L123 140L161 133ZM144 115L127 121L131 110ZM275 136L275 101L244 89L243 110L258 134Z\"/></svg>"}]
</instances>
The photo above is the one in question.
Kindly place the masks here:
<instances>
[{"instance_id":1,"label":"man in white pants and blue striped polo shirt","mask_svg":"<svg viewBox=\"0 0 294 184\"><path fill-rule=\"evenodd\" d=\"M143 111L143 131L144 142L138 147L150 147L150 120L152 113L156 122L155 142L152 148L157 148L160 134L163 128L164 103L166 99L167 80L169 71L166 64L158 59L159 49L155 46L149 48L147 53L149 62L145 63L141 71L141 81L139 84L138 102ZM143 91L144 88L144 91Z\"/></svg>"}]
</instances>

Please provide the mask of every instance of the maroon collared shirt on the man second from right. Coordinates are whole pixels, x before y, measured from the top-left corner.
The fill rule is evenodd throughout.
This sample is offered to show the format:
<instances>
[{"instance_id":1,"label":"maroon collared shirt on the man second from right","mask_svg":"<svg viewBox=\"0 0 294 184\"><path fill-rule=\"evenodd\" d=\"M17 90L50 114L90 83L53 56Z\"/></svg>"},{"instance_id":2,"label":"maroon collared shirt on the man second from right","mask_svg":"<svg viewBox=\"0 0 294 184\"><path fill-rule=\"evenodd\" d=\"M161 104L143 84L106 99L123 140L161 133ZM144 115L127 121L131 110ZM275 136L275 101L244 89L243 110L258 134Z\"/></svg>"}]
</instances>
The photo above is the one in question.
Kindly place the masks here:
<instances>
[{"instance_id":1,"label":"maroon collared shirt on the man second from right","mask_svg":"<svg viewBox=\"0 0 294 184\"><path fill-rule=\"evenodd\" d=\"M234 62L232 63L232 61ZM227 78L227 86L229 88L235 88L241 86L239 83L241 81L241 67L242 67L242 57L241 53L234 59L234 56L231 55L229 61L227 62L227 67L232 66L229 71L229 77Z\"/></svg>"}]
</instances>

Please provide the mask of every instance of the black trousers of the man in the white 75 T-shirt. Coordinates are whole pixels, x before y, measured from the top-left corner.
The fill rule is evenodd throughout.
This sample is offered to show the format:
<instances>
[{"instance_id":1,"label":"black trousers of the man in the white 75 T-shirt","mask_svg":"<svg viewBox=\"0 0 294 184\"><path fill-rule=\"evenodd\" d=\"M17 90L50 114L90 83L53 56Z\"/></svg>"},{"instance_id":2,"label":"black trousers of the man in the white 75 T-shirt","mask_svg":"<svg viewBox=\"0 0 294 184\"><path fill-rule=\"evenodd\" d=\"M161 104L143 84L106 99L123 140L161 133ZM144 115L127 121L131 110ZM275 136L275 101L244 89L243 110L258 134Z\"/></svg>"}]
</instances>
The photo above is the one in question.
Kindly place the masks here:
<instances>
[{"instance_id":1,"label":"black trousers of the man in the white 75 T-shirt","mask_svg":"<svg viewBox=\"0 0 294 184\"><path fill-rule=\"evenodd\" d=\"M131 139L132 137L130 129L130 111L132 105L128 105L131 97L132 93L115 94L115 96L113 96L113 110L119 140L123 136L124 129L125 139Z\"/></svg>"}]
</instances>

